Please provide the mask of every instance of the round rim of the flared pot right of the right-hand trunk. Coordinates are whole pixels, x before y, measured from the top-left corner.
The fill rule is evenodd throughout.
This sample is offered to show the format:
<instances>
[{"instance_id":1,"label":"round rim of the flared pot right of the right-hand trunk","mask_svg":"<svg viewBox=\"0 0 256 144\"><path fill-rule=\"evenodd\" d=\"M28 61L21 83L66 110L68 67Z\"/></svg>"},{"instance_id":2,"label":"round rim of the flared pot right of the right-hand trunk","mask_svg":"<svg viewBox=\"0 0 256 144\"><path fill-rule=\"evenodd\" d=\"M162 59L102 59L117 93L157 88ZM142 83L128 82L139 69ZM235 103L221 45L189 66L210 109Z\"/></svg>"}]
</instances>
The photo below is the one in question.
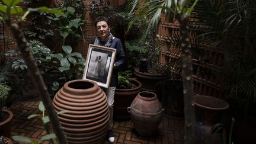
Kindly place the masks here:
<instances>
[{"instance_id":1,"label":"round rim of the flared pot right of the right-hand trunk","mask_svg":"<svg viewBox=\"0 0 256 144\"><path fill-rule=\"evenodd\" d=\"M226 103L226 101L223 101L216 97L211 97L208 95L194 95L193 98L194 98L195 105L201 108L206 108L208 110L227 110L229 108L229 104ZM204 104L200 103L199 100L200 102L203 101L205 103ZM211 103L214 103L215 107L208 105L209 104L207 103L208 101L210 101Z\"/></svg>"}]
</instances>

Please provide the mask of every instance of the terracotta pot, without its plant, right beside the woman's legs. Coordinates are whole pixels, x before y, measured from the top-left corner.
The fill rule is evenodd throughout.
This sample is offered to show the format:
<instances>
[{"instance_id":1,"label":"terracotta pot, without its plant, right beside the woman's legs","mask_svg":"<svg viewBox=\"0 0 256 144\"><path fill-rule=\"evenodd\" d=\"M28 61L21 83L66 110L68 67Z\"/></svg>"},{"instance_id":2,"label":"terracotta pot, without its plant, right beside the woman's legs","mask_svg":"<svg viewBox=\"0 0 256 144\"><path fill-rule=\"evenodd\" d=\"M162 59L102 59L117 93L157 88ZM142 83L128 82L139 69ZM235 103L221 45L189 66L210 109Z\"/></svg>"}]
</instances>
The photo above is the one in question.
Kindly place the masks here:
<instances>
[{"instance_id":1,"label":"terracotta pot, without its plant, right beside the woman's legs","mask_svg":"<svg viewBox=\"0 0 256 144\"><path fill-rule=\"evenodd\" d=\"M127 112L127 107L132 104L136 95L141 91L142 84L136 79L132 79L133 84L136 84L136 88L131 89L116 89L114 95L114 120L129 120L130 113Z\"/></svg>"}]
</instances>

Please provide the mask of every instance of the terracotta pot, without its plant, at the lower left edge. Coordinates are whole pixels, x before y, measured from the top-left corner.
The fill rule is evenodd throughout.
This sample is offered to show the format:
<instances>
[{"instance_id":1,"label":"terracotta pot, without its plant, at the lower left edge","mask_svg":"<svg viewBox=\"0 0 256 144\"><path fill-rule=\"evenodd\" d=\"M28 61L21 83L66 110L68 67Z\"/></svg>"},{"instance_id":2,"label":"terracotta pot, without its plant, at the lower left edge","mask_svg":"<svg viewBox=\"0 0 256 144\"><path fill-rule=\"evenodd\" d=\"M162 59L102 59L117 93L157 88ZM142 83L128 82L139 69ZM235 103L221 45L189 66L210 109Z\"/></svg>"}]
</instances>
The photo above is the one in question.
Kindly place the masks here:
<instances>
[{"instance_id":1,"label":"terracotta pot, without its plant, at the lower left edge","mask_svg":"<svg viewBox=\"0 0 256 144\"><path fill-rule=\"evenodd\" d=\"M0 136L5 136L5 137L10 138L13 113L9 110L3 109L0 114L1 114L1 116L8 117L4 121L0 121Z\"/></svg>"}]
</instances>

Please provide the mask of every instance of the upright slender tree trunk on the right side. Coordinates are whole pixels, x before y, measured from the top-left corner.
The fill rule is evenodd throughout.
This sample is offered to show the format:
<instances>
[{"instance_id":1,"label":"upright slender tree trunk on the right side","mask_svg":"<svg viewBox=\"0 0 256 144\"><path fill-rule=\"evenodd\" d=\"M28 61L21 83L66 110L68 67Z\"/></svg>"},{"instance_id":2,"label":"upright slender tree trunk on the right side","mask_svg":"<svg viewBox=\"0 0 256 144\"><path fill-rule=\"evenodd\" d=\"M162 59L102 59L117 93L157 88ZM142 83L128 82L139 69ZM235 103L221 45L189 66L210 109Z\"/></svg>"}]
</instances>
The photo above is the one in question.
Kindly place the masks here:
<instances>
[{"instance_id":1,"label":"upright slender tree trunk on the right side","mask_svg":"<svg viewBox=\"0 0 256 144\"><path fill-rule=\"evenodd\" d=\"M193 85L193 67L191 59L191 44L188 31L188 18L182 15L178 16L180 23L180 44L182 53L181 69L183 72L183 94L184 94L184 117L185 117L185 135L184 143L194 143L194 85Z\"/></svg>"}]
</instances>

